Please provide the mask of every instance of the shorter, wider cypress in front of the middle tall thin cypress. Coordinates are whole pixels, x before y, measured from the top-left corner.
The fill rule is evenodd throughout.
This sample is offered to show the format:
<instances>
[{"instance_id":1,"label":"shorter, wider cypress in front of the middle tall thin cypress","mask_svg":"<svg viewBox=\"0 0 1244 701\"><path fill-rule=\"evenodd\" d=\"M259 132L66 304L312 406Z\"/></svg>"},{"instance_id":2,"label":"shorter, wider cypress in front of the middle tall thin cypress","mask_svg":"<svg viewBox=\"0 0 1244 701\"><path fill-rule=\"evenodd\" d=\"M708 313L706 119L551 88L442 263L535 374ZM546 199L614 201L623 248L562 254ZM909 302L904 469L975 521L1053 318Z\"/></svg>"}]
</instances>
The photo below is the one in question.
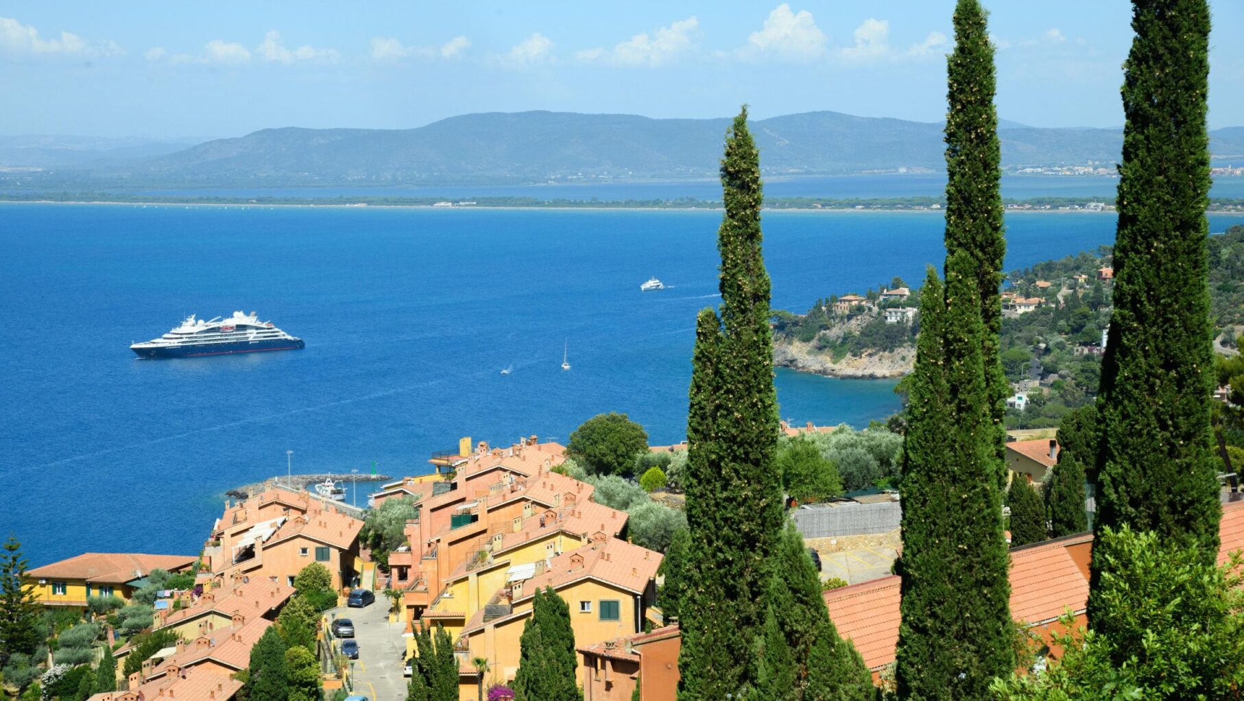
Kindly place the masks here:
<instances>
[{"instance_id":1,"label":"shorter, wider cypress in front of the middle tall thin cypress","mask_svg":"<svg viewBox=\"0 0 1244 701\"><path fill-rule=\"evenodd\" d=\"M902 699L989 699L1015 662L977 263L929 270L903 445Z\"/></svg>"}]
</instances>

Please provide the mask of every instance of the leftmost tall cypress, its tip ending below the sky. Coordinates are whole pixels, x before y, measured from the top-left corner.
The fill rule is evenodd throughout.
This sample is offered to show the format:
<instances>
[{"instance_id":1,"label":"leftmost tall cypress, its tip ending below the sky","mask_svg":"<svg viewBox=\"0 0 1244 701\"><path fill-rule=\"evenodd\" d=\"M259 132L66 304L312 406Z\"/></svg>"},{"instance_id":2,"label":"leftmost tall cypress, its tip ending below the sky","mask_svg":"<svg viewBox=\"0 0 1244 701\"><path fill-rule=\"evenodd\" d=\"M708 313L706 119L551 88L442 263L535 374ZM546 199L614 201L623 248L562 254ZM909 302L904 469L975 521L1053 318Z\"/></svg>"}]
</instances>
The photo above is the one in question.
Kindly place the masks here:
<instances>
[{"instance_id":1,"label":"leftmost tall cypress, its tip ending below the sky","mask_svg":"<svg viewBox=\"0 0 1244 701\"><path fill-rule=\"evenodd\" d=\"M693 563L682 605L678 697L724 699L756 679L766 558L782 523L769 274L761 254L760 154L746 107L726 133L720 321L697 322L688 413L687 519Z\"/></svg>"}]
</instances>

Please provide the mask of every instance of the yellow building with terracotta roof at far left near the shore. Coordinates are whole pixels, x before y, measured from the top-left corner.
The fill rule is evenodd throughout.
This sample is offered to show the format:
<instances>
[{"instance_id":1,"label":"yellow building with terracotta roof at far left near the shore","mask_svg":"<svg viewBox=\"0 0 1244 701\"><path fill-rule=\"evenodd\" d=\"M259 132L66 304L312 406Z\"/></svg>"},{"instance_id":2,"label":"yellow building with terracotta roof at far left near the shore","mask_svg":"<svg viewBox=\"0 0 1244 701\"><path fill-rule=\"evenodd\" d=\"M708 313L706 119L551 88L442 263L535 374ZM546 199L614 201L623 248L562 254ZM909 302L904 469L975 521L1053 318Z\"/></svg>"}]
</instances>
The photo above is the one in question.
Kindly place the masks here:
<instances>
[{"instance_id":1,"label":"yellow building with terracotta roof at far left near the shore","mask_svg":"<svg viewBox=\"0 0 1244 701\"><path fill-rule=\"evenodd\" d=\"M25 583L34 586L39 603L45 606L86 608L88 596L117 595L129 601L153 569L188 572L195 560L193 555L83 553L27 572Z\"/></svg>"}]
</instances>

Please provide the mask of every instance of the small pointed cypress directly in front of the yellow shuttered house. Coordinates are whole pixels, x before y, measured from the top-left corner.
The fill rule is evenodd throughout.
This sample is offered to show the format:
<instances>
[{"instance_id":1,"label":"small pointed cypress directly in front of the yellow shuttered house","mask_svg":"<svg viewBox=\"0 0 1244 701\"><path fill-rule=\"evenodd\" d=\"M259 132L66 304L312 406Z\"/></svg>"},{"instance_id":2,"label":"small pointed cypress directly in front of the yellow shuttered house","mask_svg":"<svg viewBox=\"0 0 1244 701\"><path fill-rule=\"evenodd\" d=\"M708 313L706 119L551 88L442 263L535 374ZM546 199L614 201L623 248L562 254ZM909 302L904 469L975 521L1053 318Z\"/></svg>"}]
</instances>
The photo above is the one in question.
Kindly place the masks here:
<instances>
[{"instance_id":1,"label":"small pointed cypress directly in front of the yellow shuttered house","mask_svg":"<svg viewBox=\"0 0 1244 701\"><path fill-rule=\"evenodd\" d=\"M551 586L537 590L519 639L515 701L582 701L575 680L577 667L570 608Z\"/></svg>"}]
</instances>

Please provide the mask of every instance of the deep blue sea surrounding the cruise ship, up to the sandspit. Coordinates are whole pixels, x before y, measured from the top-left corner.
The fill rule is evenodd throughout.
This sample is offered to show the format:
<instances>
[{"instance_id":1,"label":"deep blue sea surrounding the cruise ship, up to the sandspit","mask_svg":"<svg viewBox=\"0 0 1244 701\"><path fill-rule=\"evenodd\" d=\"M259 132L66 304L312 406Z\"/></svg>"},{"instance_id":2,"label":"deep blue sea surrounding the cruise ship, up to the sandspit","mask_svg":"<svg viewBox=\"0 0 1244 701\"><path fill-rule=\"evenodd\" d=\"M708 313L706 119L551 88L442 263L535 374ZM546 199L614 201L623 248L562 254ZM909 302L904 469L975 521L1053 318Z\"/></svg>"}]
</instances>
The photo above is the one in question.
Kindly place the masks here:
<instances>
[{"instance_id":1,"label":"deep blue sea surrounding the cruise ship, up to the sandspit","mask_svg":"<svg viewBox=\"0 0 1244 701\"><path fill-rule=\"evenodd\" d=\"M0 205L0 537L36 565L195 553L224 491L284 474L287 449L296 473L374 462L402 476L462 436L565 442L605 411L679 441L695 313L717 304L719 219ZM942 227L934 213L766 213L774 304L917 281L942 260ZM1108 214L1009 215L1006 268L1110 243L1113 228ZM639 293L653 275L671 289ZM188 314L234 310L306 349L169 361L128 349ZM891 381L776 382L795 422L865 426L898 407Z\"/></svg>"}]
</instances>

